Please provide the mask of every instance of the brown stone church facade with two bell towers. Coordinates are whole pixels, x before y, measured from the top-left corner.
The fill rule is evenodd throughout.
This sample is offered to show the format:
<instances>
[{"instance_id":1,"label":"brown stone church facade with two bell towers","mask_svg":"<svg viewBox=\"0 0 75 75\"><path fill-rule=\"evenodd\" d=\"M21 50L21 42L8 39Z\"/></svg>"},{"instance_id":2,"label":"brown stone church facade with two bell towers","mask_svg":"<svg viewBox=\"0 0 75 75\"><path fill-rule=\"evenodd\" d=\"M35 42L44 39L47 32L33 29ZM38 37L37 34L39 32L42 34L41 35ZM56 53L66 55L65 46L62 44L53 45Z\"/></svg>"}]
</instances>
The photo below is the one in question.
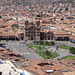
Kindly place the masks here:
<instances>
[{"instance_id":1,"label":"brown stone church facade with two bell towers","mask_svg":"<svg viewBox=\"0 0 75 75\"><path fill-rule=\"evenodd\" d=\"M40 21L25 21L25 40L40 40Z\"/></svg>"}]
</instances>

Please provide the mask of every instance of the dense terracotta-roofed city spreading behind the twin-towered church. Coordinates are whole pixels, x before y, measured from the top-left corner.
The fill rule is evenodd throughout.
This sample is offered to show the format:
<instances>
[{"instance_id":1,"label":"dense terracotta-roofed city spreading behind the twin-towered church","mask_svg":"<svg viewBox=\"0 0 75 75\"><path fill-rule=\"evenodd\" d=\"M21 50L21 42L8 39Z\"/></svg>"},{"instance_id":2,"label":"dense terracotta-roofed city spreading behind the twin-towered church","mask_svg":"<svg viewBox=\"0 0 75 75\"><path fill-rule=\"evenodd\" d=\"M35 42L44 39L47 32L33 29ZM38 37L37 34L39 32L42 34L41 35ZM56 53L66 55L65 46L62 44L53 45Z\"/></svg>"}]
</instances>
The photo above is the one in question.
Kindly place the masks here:
<instances>
[{"instance_id":1,"label":"dense terracotta-roofed city spreading behind the twin-towered church","mask_svg":"<svg viewBox=\"0 0 75 75\"><path fill-rule=\"evenodd\" d=\"M54 38L56 36L70 37L70 34L75 36L75 3L51 3L44 0L46 3L38 4L37 2L41 2L41 0L28 0L32 3L31 5L15 5L18 2L22 3L23 0L11 1L8 1L10 4L1 5L0 7L0 15L2 17L0 18L1 39L16 39L19 36L23 36L25 20L28 20L31 24L32 22L35 23L37 19L40 20L40 32L50 31L54 34ZM72 40L74 40L73 36L71 36Z\"/></svg>"}]
</instances>

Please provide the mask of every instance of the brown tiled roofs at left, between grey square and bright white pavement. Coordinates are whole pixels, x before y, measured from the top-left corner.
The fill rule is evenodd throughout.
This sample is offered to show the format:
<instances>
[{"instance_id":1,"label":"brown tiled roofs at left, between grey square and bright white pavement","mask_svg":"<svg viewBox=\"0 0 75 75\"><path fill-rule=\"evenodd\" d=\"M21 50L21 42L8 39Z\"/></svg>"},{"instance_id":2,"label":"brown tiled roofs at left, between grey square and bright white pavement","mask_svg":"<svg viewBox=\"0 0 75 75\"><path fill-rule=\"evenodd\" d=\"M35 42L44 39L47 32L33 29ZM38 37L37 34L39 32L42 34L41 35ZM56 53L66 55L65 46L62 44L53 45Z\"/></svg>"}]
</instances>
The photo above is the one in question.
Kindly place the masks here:
<instances>
[{"instance_id":1,"label":"brown tiled roofs at left, between grey square and bright white pavement","mask_svg":"<svg viewBox=\"0 0 75 75\"><path fill-rule=\"evenodd\" d=\"M25 66L27 65L25 58L20 54L8 51L2 47L0 47L0 59L10 60L19 69L25 69Z\"/></svg>"}]
</instances>

